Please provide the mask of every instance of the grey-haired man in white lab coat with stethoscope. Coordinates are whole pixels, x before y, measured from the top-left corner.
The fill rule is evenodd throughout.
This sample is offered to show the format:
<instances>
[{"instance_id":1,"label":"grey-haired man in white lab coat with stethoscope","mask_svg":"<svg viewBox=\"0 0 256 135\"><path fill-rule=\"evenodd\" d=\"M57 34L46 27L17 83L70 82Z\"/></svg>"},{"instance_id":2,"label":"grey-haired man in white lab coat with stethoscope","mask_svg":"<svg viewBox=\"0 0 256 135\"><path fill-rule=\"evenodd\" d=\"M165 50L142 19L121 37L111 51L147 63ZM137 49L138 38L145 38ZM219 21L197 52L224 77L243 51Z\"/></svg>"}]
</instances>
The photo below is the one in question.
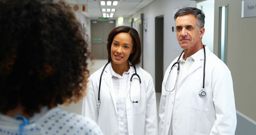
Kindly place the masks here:
<instances>
[{"instance_id":1,"label":"grey-haired man in white lab coat with stethoscope","mask_svg":"<svg viewBox=\"0 0 256 135\"><path fill-rule=\"evenodd\" d=\"M164 75L159 135L235 133L231 73L226 64L202 44L204 18L201 10L191 7L182 8L174 15L177 40L184 52Z\"/></svg>"}]
</instances>

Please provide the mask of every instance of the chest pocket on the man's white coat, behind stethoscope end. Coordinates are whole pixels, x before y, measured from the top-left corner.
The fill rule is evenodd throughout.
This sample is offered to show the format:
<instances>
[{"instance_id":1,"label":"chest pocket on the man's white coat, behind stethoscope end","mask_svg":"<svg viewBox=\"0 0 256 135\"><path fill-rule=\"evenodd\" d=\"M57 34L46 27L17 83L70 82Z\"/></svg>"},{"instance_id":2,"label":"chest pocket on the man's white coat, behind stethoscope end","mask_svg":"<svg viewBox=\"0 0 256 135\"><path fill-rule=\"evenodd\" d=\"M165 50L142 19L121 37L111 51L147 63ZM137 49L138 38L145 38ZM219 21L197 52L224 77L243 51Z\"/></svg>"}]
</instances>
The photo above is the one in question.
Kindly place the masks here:
<instances>
[{"instance_id":1,"label":"chest pocket on the man's white coat, behind stethoscope end","mask_svg":"<svg viewBox=\"0 0 256 135\"><path fill-rule=\"evenodd\" d=\"M199 95L199 91L202 90L202 87L198 87L196 90L191 89L192 92L188 98L188 107L197 109L200 111L209 111L209 105L212 103L212 89L209 87L205 87L204 90L206 91L206 95L201 97Z\"/></svg>"}]
</instances>

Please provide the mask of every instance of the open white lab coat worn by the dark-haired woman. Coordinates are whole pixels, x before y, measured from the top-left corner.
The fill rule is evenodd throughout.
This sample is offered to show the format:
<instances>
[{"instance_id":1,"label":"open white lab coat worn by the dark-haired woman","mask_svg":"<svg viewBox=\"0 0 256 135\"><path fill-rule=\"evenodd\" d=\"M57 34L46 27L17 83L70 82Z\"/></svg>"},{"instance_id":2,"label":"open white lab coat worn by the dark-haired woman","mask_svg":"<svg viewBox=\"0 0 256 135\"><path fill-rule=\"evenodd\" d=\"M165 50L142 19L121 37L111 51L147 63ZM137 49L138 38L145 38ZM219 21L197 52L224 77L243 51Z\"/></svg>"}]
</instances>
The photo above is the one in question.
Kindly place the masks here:
<instances>
[{"instance_id":1,"label":"open white lab coat worn by the dark-haired woman","mask_svg":"<svg viewBox=\"0 0 256 135\"><path fill-rule=\"evenodd\" d=\"M110 73L110 64L108 64L102 75L100 87L100 108L99 113L96 107L98 101L98 87L100 74L103 67L93 73L88 82L87 95L84 97L82 106L82 115L90 117L98 123L105 135L118 134L118 120L116 113L116 95ZM129 86L126 92L126 113L128 121L129 135L157 135L158 122L156 111L156 93L154 83L149 73L136 65L136 71L141 79L141 99L138 79L132 82L132 100L140 99L139 103L132 103L129 96ZM134 67L130 66L129 81L132 74L135 73ZM138 78L136 75L133 78ZM134 87L135 86L135 87Z\"/></svg>"}]
</instances>

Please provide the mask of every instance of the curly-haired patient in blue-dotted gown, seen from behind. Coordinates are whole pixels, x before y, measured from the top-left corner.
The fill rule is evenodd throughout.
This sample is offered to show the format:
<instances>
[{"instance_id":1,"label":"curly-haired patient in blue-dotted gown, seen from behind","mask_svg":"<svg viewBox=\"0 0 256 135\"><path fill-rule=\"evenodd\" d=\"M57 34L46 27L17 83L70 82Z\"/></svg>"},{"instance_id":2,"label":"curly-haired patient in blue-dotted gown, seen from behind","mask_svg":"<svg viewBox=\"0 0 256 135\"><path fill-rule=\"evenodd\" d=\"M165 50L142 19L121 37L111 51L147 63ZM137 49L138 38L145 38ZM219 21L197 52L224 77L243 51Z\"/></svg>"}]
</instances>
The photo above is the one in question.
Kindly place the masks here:
<instances>
[{"instance_id":1,"label":"curly-haired patient in blue-dotted gown, seen from behind","mask_svg":"<svg viewBox=\"0 0 256 135\"><path fill-rule=\"evenodd\" d=\"M102 135L56 107L85 95L86 47L64 2L0 0L0 135Z\"/></svg>"}]
</instances>

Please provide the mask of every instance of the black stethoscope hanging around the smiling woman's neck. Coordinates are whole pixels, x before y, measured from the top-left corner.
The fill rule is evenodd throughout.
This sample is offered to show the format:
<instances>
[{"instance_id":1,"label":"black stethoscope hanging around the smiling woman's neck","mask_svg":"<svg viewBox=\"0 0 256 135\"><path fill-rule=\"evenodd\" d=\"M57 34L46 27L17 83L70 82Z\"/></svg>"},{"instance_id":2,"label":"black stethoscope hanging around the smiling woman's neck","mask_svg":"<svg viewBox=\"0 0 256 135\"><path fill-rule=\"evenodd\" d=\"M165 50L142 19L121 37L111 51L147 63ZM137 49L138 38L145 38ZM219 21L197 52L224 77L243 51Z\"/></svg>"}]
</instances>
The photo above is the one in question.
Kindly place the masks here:
<instances>
[{"instance_id":1,"label":"black stethoscope hanging around the smiling woman's neck","mask_svg":"<svg viewBox=\"0 0 256 135\"><path fill-rule=\"evenodd\" d=\"M101 85L101 78L102 78L102 75L103 75L103 72L104 72L104 70L105 70L105 68L106 68L106 66L109 64L110 62L108 62L104 67L103 67L103 70L102 70L102 72L101 72L101 75L100 75L100 84L99 84L99 91L98 91L98 101L97 101L97 107L100 107L100 85ZM137 74L137 71L136 71L136 67L135 66L133 66L134 67L134 70L135 70L135 73L134 74L132 74L132 76L131 76L131 78L130 78L130 89L129 89L129 96L130 96L130 101L132 102L132 103L139 103L140 102L140 99L141 99L141 80L140 80L140 76ZM133 78L133 76L134 75L136 75L138 78L139 78L139 81L140 81L140 99L139 100L137 100L137 101L133 101L132 99L131 99L131 85L132 85L132 78Z\"/></svg>"}]
</instances>

